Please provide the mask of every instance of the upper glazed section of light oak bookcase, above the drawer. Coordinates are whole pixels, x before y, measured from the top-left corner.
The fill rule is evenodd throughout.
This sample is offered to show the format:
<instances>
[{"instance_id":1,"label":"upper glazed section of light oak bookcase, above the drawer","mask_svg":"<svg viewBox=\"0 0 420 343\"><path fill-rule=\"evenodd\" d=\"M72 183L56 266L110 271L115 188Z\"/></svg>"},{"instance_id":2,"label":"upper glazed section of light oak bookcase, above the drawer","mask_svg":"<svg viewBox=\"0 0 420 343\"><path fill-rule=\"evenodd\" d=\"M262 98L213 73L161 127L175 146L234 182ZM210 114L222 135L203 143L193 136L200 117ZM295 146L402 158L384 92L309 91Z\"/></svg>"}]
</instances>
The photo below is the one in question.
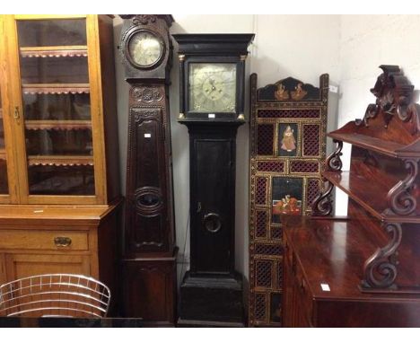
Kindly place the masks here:
<instances>
[{"instance_id":1,"label":"upper glazed section of light oak bookcase, above the drawer","mask_svg":"<svg viewBox=\"0 0 420 343\"><path fill-rule=\"evenodd\" d=\"M115 85L101 74L111 66L102 25L94 15L3 16L5 145L15 171L4 203L104 205L117 194L118 182L107 183L117 180L106 159L116 145L104 144Z\"/></svg>"}]
</instances>

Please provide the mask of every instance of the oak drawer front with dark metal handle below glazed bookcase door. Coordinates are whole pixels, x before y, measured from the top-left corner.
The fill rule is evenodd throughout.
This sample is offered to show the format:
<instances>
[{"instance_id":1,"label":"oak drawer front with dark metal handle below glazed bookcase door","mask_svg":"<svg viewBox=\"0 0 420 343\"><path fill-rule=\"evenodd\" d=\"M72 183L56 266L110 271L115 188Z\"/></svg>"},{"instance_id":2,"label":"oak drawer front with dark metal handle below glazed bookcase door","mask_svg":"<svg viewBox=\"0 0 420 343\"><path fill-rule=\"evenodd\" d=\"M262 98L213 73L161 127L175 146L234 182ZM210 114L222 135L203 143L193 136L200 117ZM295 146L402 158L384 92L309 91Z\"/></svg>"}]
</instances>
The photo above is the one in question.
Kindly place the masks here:
<instances>
[{"instance_id":1,"label":"oak drawer front with dark metal handle below glazed bookcase door","mask_svg":"<svg viewBox=\"0 0 420 343\"><path fill-rule=\"evenodd\" d=\"M87 231L0 230L0 250L88 251Z\"/></svg>"}]
</instances>

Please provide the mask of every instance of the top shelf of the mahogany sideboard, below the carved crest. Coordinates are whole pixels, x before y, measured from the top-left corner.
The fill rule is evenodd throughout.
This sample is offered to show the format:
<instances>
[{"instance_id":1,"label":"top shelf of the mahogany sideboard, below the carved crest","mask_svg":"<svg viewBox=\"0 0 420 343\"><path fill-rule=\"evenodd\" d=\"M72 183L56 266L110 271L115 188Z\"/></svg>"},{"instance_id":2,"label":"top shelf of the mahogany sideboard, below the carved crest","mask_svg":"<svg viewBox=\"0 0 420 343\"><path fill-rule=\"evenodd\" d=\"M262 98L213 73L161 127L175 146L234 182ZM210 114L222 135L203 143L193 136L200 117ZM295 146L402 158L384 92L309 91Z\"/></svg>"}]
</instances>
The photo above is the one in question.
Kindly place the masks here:
<instances>
[{"instance_id":1,"label":"top shelf of the mahogany sideboard, below the carved crest","mask_svg":"<svg viewBox=\"0 0 420 343\"><path fill-rule=\"evenodd\" d=\"M404 145L357 133L357 128L355 122L351 121L343 128L328 133L327 136L390 157L420 157L420 138L416 139L416 141L411 144Z\"/></svg>"}]
</instances>

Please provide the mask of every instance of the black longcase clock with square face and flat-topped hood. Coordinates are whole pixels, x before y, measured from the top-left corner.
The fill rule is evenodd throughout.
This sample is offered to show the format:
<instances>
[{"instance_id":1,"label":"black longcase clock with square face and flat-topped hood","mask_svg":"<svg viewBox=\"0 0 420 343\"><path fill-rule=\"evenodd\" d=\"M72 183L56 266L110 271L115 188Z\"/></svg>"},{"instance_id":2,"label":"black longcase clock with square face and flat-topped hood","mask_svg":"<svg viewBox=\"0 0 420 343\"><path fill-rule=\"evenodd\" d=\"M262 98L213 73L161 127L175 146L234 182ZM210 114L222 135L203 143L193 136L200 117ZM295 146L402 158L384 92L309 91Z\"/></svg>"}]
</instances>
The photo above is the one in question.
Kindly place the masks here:
<instances>
[{"instance_id":1,"label":"black longcase clock with square face and flat-topped hood","mask_svg":"<svg viewBox=\"0 0 420 343\"><path fill-rule=\"evenodd\" d=\"M253 34L175 34L179 123L188 127L190 268L179 325L243 325L242 276L234 269L236 133ZM201 325L200 324L200 325Z\"/></svg>"}]
</instances>

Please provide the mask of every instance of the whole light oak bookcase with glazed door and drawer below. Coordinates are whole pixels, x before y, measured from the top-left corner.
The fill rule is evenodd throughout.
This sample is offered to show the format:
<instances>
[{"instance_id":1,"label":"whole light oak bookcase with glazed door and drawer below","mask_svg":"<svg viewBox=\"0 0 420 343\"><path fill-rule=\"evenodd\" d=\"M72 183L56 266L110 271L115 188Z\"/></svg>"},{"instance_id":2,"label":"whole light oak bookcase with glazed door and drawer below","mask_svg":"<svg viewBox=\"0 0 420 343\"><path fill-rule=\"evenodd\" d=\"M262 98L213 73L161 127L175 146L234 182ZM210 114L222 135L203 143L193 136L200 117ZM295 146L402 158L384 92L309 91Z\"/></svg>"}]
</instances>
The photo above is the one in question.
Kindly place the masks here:
<instances>
[{"instance_id":1,"label":"whole light oak bookcase with glazed door and drawer below","mask_svg":"<svg viewBox=\"0 0 420 343\"><path fill-rule=\"evenodd\" d=\"M109 16L0 16L0 282L44 271L103 277L106 249L112 259L112 37Z\"/></svg>"}]
</instances>

